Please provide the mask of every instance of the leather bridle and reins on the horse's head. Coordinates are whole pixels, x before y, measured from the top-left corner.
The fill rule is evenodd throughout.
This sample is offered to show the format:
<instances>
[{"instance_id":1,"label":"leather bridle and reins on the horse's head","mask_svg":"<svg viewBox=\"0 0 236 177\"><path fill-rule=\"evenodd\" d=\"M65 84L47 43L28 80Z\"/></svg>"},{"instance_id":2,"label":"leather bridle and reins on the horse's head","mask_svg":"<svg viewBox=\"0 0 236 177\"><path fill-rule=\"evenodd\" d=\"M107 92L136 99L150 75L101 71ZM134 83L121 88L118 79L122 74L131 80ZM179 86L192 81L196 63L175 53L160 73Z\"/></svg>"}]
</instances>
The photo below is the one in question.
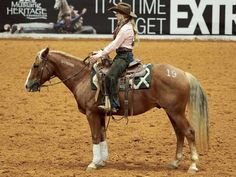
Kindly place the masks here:
<instances>
[{"instance_id":1,"label":"leather bridle and reins on the horse's head","mask_svg":"<svg viewBox=\"0 0 236 177\"><path fill-rule=\"evenodd\" d=\"M90 58L90 55L89 55L89 56L87 56L87 57L83 60L83 63L84 63L83 68L82 68L81 70L79 70L78 72L76 72L75 74L72 74L72 75L69 76L68 78L65 78L65 79L63 79L63 80L61 80L61 81L58 81L58 82L56 82L56 83L51 83L51 82L50 82L51 79L53 79L53 78L56 77L55 75L53 75L53 76L51 76L51 77L47 80L47 81L50 82L50 84L42 84L42 85L40 85L40 83L41 83L41 81L42 81L42 77L43 77L43 73L44 73L45 68L46 68L46 70L50 73L50 70L49 70L48 67L47 67L47 63L50 62L50 60L48 60L47 57L43 57L43 56L38 56L38 57L42 60L42 67L41 67L40 78L39 78L39 80L37 80L37 82L35 83L35 84L38 84L38 91L40 91L40 88L41 88L41 87L50 87L50 86L58 85L58 84L61 84L61 83L65 83L66 81L68 81L68 80L70 80L70 79L72 79L72 78L74 78L74 77L80 75L80 74L85 70L85 68L90 65L90 62L86 62L86 61ZM35 63L34 63L34 64L33 64L33 67L39 67L40 64L41 64L41 63L39 63L39 64L35 64Z\"/></svg>"}]
</instances>

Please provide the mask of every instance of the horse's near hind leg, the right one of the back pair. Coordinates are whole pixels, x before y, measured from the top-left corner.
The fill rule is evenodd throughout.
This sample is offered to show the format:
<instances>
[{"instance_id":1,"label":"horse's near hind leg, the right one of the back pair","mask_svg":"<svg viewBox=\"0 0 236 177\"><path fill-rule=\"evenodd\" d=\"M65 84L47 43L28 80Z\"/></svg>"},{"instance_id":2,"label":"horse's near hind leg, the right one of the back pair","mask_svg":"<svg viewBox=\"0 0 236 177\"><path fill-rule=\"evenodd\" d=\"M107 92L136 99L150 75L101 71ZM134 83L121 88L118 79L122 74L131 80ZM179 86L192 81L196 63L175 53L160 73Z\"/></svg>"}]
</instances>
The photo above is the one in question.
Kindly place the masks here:
<instances>
[{"instance_id":1,"label":"horse's near hind leg, the right one of the back pair","mask_svg":"<svg viewBox=\"0 0 236 177\"><path fill-rule=\"evenodd\" d=\"M177 128L188 140L190 152L191 152L191 160L192 160L192 163L189 167L188 172L195 173L196 171L198 171L198 168L197 168L198 154L197 154L196 143L195 143L195 132L193 128L190 126L184 113L170 114L170 116L172 120L174 121L174 123L176 124Z\"/></svg>"}]
</instances>

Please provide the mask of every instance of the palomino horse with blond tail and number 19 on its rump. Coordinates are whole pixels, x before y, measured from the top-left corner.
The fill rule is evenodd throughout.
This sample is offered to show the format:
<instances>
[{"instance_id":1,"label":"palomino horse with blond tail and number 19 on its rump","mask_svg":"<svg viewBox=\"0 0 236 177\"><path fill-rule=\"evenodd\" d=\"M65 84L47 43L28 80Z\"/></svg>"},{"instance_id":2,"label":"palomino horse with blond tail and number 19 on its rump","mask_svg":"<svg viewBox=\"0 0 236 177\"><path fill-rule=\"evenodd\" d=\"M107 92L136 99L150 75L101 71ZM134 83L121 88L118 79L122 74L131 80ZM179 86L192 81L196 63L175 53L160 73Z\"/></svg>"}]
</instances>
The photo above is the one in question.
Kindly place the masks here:
<instances>
[{"instance_id":1,"label":"palomino horse with blond tail and number 19 on its rump","mask_svg":"<svg viewBox=\"0 0 236 177\"><path fill-rule=\"evenodd\" d=\"M63 52L49 52L49 48L46 48L38 53L25 83L28 91L38 91L46 81L56 76L74 94L79 110L87 116L92 134L93 160L87 170L103 167L108 158L105 114L95 102L90 73L91 67L84 61ZM170 167L178 167L186 137L191 151L189 172L198 171L196 145L201 150L208 149L208 105L203 89L190 73L167 64L153 65L151 84L149 89L134 91L133 115L154 107L163 108L177 137L176 156ZM116 115L123 115L123 92L119 93L119 99L121 108ZM185 117L187 104L190 107L191 125Z\"/></svg>"}]
</instances>

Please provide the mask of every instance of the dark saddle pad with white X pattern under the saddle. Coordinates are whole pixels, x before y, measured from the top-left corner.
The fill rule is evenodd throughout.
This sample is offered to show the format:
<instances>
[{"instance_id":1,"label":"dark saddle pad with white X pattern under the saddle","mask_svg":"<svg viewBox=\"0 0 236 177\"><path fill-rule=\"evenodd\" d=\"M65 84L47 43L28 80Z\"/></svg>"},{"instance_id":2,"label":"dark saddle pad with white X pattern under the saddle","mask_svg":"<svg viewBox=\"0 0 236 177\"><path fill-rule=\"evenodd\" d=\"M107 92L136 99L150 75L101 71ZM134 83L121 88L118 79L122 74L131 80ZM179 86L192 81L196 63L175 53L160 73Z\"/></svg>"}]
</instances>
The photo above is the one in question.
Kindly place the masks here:
<instances>
[{"instance_id":1,"label":"dark saddle pad with white X pattern under the saddle","mask_svg":"<svg viewBox=\"0 0 236 177\"><path fill-rule=\"evenodd\" d=\"M142 77L134 77L129 80L129 87L135 90L138 89L147 89L151 86L152 80L152 64L143 65L146 68L146 73ZM98 78L96 75L96 64L92 67L91 71L91 88L92 90L97 90L98 87ZM121 82L119 79L119 90L125 90L125 83Z\"/></svg>"}]
</instances>

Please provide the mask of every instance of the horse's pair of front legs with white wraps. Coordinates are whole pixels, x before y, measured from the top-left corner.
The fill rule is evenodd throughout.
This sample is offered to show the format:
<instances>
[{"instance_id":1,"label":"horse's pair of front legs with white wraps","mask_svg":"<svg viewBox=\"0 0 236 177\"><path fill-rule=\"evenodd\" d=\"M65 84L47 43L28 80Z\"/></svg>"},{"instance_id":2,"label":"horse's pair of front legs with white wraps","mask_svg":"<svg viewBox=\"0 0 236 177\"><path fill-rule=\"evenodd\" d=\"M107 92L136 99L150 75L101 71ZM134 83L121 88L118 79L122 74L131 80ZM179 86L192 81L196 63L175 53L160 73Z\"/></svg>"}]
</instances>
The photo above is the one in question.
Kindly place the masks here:
<instances>
[{"instance_id":1,"label":"horse's pair of front legs with white wraps","mask_svg":"<svg viewBox=\"0 0 236 177\"><path fill-rule=\"evenodd\" d=\"M88 165L86 170L91 171L105 166L104 161L108 157L108 150L106 141L103 139L104 136L102 134L103 126L101 120L103 116L100 115L98 112L93 113L90 111L88 111L86 114L91 129L92 142L93 142L93 160Z\"/></svg>"}]
</instances>

